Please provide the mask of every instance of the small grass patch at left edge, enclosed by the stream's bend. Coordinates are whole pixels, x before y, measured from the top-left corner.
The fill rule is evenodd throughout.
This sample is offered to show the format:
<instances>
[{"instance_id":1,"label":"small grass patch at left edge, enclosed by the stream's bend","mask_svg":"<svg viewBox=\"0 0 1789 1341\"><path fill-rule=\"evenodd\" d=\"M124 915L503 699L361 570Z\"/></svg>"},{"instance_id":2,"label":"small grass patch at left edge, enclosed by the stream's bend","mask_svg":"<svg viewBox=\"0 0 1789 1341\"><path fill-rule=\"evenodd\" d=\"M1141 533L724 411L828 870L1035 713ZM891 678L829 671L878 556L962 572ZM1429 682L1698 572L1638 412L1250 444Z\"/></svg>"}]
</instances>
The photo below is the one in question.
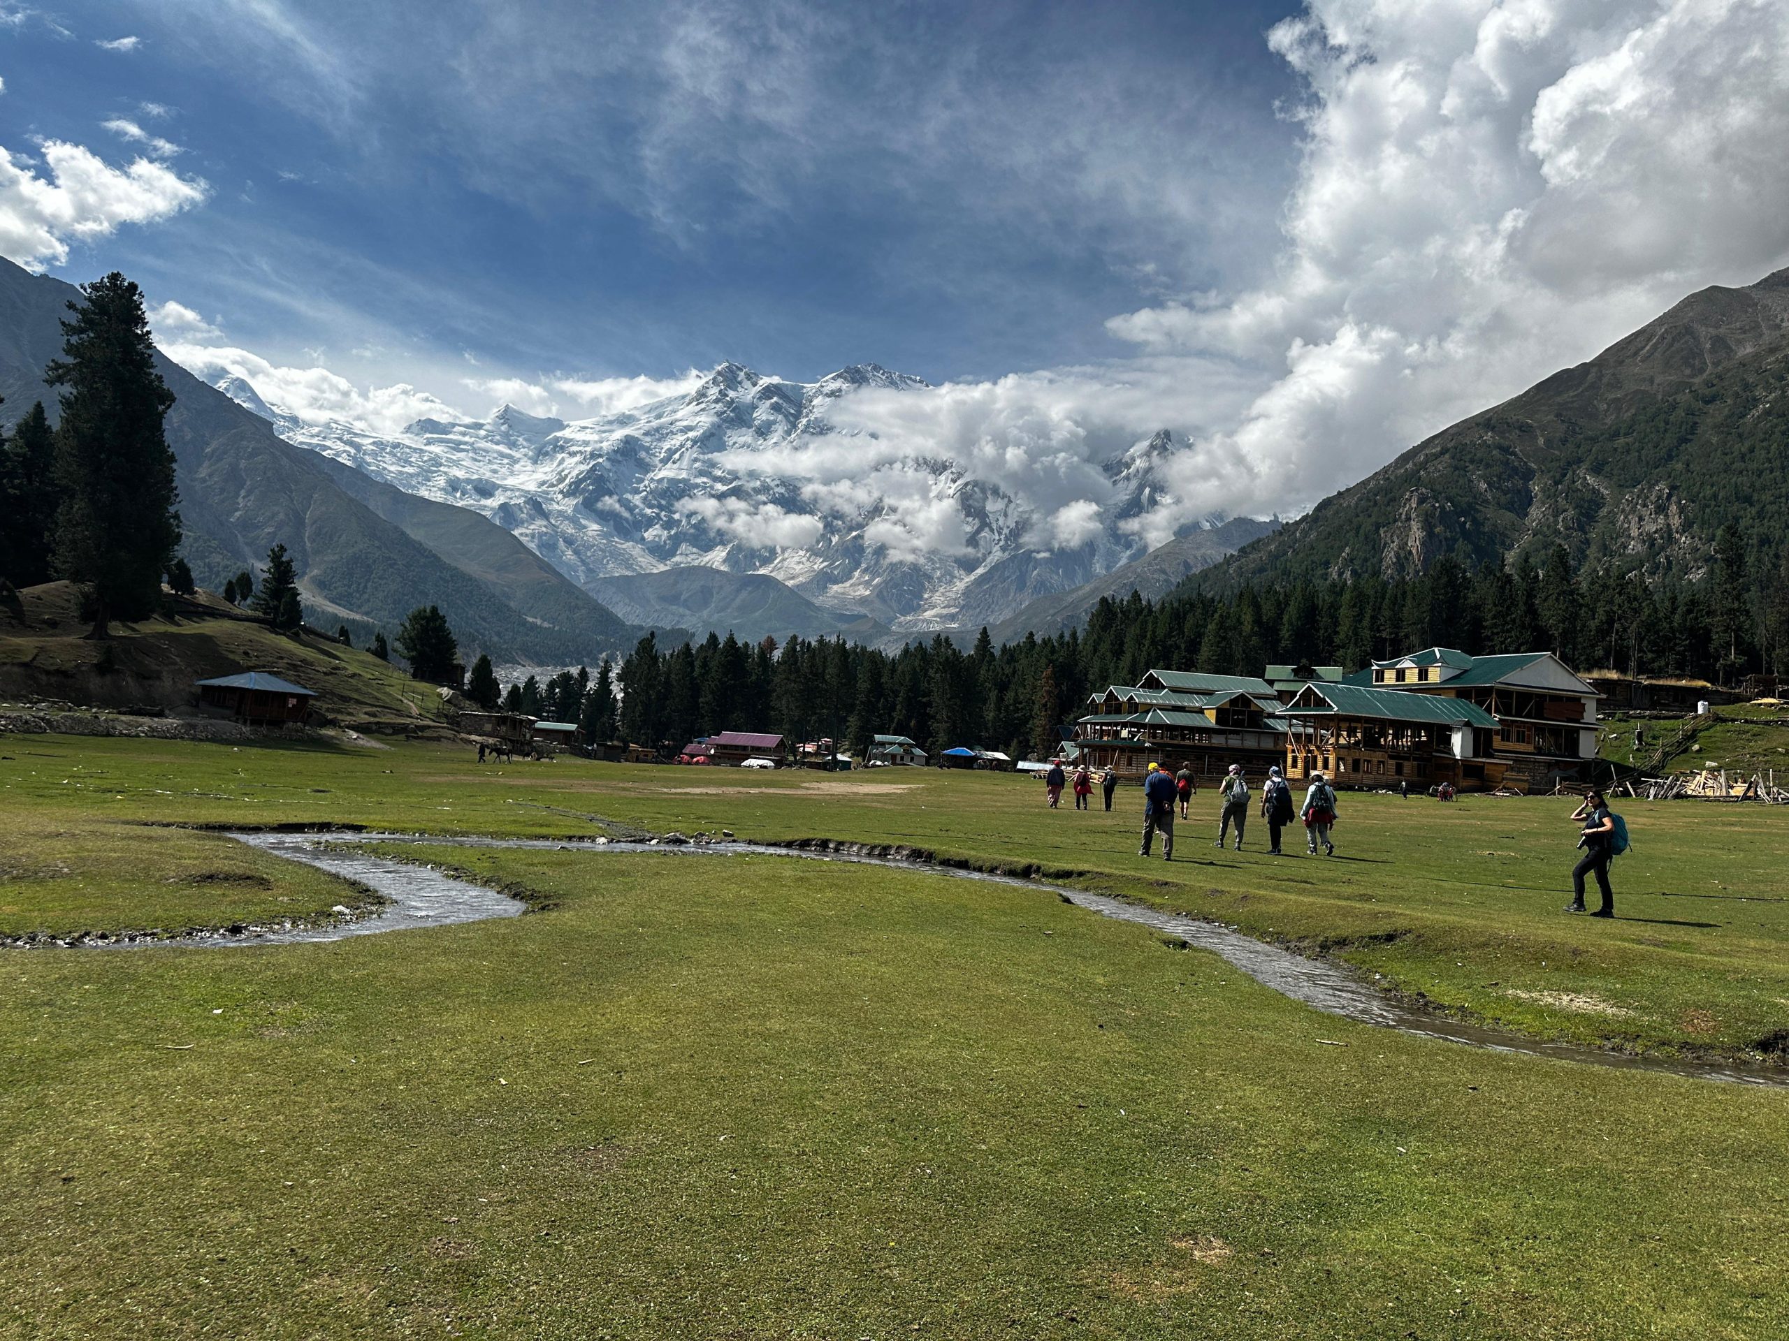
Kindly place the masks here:
<instances>
[{"instance_id":1,"label":"small grass patch at left edge, enclosed by the stream's bend","mask_svg":"<svg viewBox=\"0 0 1789 1341\"><path fill-rule=\"evenodd\" d=\"M365 898L215 833L14 814L0 848L0 935L181 932L329 915L338 903Z\"/></svg>"}]
</instances>

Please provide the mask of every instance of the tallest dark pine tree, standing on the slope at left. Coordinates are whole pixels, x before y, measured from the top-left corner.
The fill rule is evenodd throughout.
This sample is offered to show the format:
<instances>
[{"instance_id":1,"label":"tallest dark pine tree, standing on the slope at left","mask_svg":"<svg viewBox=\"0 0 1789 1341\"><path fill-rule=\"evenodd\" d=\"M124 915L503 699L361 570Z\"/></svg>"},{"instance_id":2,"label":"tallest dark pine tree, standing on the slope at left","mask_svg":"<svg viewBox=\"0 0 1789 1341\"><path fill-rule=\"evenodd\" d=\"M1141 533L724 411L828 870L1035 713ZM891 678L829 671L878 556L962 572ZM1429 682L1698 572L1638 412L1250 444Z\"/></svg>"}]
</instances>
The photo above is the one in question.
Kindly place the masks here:
<instances>
[{"instance_id":1,"label":"tallest dark pine tree, standing on the slope at left","mask_svg":"<svg viewBox=\"0 0 1789 1341\"><path fill-rule=\"evenodd\" d=\"M143 293L116 270L82 286L63 322L63 354L45 370L61 386L55 431L55 567L93 601L93 633L141 619L181 544L174 452L163 417L174 393L156 372Z\"/></svg>"}]
</instances>

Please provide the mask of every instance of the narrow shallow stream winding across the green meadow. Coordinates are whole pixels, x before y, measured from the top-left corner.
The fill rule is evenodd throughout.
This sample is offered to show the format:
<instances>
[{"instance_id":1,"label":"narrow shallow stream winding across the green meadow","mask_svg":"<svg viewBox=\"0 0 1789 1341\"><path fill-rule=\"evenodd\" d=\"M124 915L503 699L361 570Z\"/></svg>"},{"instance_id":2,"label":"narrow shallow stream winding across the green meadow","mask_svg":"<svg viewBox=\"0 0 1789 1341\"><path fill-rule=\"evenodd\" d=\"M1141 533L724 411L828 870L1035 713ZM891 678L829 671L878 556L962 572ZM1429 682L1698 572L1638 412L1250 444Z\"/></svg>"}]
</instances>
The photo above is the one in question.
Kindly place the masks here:
<instances>
[{"instance_id":1,"label":"narrow shallow stream winding across the green meadow","mask_svg":"<svg viewBox=\"0 0 1789 1341\"><path fill-rule=\"evenodd\" d=\"M1154 932L1184 940L1188 946L1209 949L1231 966L1247 973L1263 987L1301 1001L1329 1016L1340 1016L1361 1025L1394 1028L1424 1039L1467 1044L1471 1048L1488 1048L1503 1053L1521 1053L1526 1057L1547 1057L1567 1062L1587 1062L1590 1066L1608 1066L1624 1071L1655 1071L1673 1076L1691 1076L1696 1080L1721 1080L1741 1085L1789 1085L1789 1073L1769 1066L1746 1066L1737 1062L1680 1062L1655 1057L1630 1057L1626 1053L1601 1051L1571 1042L1542 1042L1526 1039L1485 1025L1467 1025L1453 1019L1428 1016L1410 1010L1383 996L1372 983L1360 978L1342 964L1313 960L1281 946L1270 946L1251 935L1209 923L1191 914L1163 912L1140 903L1090 894L1066 885L1050 885L1041 880L1022 880L1018 876L998 876L980 871L959 871L952 867L928 865L923 862L868 856L846 853L814 853L793 848L769 848L750 842L714 842L689 846L660 846L649 842L589 842L564 839L440 839L415 833L233 833L238 842L245 842L276 856L304 862L318 871L356 880L392 899L381 912L351 923L313 926L288 932L250 932L247 935L184 944L299 944L309 940L343 940L354 935L376 935L379 932L397 932L420 926L451 926L454 923L476 923L490 917L515 917L524 907L508 894L454 880L438 871L429 871L408 862L394 862L370 853L351 851L352 846L370 842L413 842L431 848L508 848L522 851L569 851L583 855L619 855L651 853L667 858L725 858L725 856L780 856L807 862L846 862L855 865L882 865L896 871L925 871L952 880L975 880L980 883L1009 885L1034 892L1054 894L1056 898L1086 908L1100 917L1115 917L1136 923ZM163 940L152 944L182 944L181 940Z\"/></svg>"}]
</instances>

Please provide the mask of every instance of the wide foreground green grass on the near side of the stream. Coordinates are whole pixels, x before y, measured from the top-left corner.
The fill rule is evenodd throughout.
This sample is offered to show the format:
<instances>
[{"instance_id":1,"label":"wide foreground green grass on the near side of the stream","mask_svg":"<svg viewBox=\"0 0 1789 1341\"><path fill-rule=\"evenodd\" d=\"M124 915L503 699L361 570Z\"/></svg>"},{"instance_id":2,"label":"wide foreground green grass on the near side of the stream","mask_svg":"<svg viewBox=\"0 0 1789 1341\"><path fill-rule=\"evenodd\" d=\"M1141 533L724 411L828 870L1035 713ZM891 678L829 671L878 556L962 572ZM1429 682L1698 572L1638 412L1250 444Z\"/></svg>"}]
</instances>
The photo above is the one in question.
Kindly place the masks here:
<instances>
[{"instance_id":1,"label":"wide foreground green grass on the near side of the stream","mask_svg":"<svg viewBox=\"0 0 1789 1341\"><path fill-rule=\"evenodd\" d=\"M1025 889L413 855L555 907L0 962L0 1334L1789 1328L1782 1092L1322 1017Z\"/></svg>"}]
</instances>

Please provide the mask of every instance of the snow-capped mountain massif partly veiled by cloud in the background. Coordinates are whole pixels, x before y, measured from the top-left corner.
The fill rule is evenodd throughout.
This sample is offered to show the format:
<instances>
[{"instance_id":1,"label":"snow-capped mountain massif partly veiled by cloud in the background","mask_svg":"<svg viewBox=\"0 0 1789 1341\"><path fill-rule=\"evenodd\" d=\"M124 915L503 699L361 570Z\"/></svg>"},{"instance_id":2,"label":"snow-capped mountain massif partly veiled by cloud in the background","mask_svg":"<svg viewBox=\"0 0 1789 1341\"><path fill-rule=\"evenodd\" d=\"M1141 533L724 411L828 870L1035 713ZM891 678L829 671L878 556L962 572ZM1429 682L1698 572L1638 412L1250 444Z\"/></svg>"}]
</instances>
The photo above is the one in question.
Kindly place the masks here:
<instances>
[{"instance_id":1,"label":"snow-capped mountain massif partly veiled by cloud in the background","mask_svg":"<svg viewBox=\"0 0 1789 1341\"><path fill-rule=\"evenodd\" d=\"M1109 461L1077 463L1086 497L1064 533L1061 513L948 454L891 451L837 427L844 397L927 386L875 365L789 383L725 363L687 395L599 418L503 406L483 422L426 418L397 436L302 422L236 375L216 384L290 442L485 513L587 588L692 565L767 574L898 631L996 622L1138 558L1143 542L1120 524L1159 502L1159 467L1179 445L1163 431Z\"/></svg>"}]
</instances>

